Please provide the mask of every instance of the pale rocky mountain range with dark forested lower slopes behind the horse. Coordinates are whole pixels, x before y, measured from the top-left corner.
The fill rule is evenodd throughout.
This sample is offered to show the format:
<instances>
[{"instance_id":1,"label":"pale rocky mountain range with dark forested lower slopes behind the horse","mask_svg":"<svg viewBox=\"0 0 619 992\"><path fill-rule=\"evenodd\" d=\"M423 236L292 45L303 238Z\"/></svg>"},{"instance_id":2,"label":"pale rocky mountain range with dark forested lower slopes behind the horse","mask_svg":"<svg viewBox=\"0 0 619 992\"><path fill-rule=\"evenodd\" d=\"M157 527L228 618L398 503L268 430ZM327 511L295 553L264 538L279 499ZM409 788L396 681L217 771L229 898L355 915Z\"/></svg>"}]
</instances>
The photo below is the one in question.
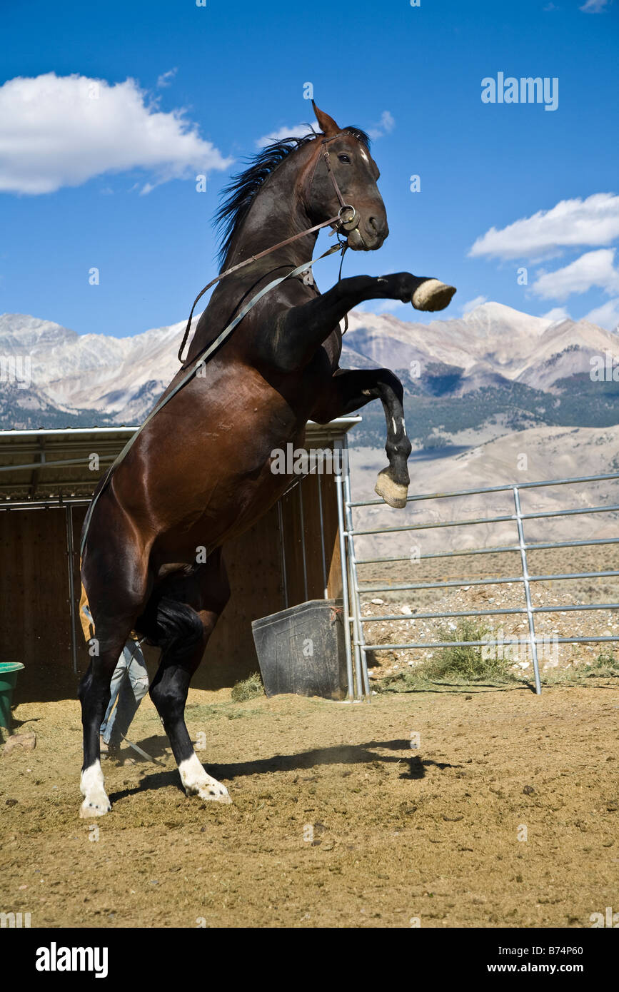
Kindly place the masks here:
<instances>
[{"instance_id":1,"label":"pale rocky mountain range with dark forested lower slopes behind the horse","mask_svg":"<svg viewBox=\"0 0 619 992\"><path fill-rule=\"evenodd\" d=\"M5 366L7 357L30 365L26 386L4 375L0 427L139 424L179 368L184 329L180 321L118 338L79 334L20 313L0 315ZM398 370L409 433L418 446L433 447L484 428L496 436L540 425L618 423L619 383L589 376L591 359L605 355L619 362L619 329L586 320L551 322L486 303L428 324L352 310L340 364ZM358 442L380 439L382 446L379 404L364 410L358 430Z\"/></svg>"}]
</instances>

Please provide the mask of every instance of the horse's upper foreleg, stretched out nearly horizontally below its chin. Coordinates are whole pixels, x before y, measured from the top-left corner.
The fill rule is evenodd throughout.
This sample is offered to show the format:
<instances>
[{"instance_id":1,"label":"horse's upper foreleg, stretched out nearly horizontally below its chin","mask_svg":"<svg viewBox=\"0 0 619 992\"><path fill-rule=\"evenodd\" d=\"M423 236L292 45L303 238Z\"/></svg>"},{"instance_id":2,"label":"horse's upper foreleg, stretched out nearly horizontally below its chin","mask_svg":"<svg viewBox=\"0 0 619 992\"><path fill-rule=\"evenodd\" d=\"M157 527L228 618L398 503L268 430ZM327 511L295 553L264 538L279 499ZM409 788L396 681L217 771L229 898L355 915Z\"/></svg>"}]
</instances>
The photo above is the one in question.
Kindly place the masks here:
<instances>
[{"instance_id":1,"label":"horse's upper foreleg, stretched out nearly horizontally below its chin","mask_svg":"<svg viewBox=\"0 0 619 992\"><path fill-rule=\"evenodd\" d=\"M285 372L297 371L348 310L366 300L399 300L417 310L444 310L454 293L452 286L410 272L342 279L322 296L283 312L262 343L263 357Z\"/></svg>"}]
</instances>

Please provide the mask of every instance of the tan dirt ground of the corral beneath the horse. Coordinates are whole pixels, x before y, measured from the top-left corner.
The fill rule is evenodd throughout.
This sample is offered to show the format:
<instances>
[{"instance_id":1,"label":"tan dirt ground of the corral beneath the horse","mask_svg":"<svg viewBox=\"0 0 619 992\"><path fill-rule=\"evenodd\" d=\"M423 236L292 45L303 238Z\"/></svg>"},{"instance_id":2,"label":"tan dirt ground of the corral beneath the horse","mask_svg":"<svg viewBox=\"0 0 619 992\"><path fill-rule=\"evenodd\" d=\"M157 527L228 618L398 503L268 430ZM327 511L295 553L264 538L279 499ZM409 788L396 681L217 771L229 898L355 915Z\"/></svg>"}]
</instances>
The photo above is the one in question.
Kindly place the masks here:
<instances>
[{"instance_id":1,"label":"tan dirt ground of the corral beneath the horse","mask_svg":"<svg viewBox=\"0 0 619 992\"><path fill-rule=\"evenodd\" d=\"M619 910L618 711L616 680L369 704L192 689L233 805L186 799L147 699L132 740L165 767L123 748L112 812L87 821L77 702L22 703L37 747L0 756L0 909L37 928L590 927Z\"/></svg>"}]
</instances>

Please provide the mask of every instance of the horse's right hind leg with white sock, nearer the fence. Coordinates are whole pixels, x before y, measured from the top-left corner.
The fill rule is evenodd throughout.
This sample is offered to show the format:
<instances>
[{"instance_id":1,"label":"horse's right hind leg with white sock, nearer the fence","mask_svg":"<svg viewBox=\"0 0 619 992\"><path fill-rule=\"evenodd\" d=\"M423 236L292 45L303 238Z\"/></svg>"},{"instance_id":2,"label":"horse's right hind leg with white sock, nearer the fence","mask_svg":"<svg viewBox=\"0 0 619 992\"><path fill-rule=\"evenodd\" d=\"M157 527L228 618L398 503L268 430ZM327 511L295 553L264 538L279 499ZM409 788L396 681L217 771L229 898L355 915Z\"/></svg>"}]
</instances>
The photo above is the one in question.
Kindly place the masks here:
<instances>
[{"instance_id":1,"label":"horse's right hind leg with white sock, nearer the fence","mask_svg":"<svg viewBox=\"0 0 619 992\"><path fill-rule=\"evenodd\" d=\"M179 603L184 603L185 608L191 608L196 623L201 624L201 637L185 654L174 647L164 653L151 685L151 698L170 738L186 795L198 796L208 802L231 803L225 786L208 775L195 754L185 722L191 676L230 595L221 552L215 551L192 575L180 578L172 595Z\"/></svg>"}]
</instances>

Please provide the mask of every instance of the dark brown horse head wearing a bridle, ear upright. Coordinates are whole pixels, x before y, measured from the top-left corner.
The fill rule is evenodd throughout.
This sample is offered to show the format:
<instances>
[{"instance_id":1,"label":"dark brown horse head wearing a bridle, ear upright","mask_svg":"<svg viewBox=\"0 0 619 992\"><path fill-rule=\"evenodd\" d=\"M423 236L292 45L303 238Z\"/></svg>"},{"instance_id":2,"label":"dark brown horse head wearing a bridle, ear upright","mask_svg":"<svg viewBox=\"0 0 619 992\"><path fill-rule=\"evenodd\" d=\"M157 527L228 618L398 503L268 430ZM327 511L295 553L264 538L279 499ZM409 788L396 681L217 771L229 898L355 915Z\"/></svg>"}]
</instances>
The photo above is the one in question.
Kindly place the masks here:
<instances>
[{"instance_id":1,"label":"dark brown horse head wearing a bridle, ear upright","mask_svg":"<svg viewBox=\"0 0 619 992\"><path fill-rule=\"evenodd\" d=\"M332 117L311 102L323 137L316 138L310 162L309 217L313 223L319 223L339 210L340 230L346 235L349 247L374 251L389 234L389 227L383 197L376 185L380 172L365 135L352 127L338 127Z\"/></svg>"}]
</instances>

